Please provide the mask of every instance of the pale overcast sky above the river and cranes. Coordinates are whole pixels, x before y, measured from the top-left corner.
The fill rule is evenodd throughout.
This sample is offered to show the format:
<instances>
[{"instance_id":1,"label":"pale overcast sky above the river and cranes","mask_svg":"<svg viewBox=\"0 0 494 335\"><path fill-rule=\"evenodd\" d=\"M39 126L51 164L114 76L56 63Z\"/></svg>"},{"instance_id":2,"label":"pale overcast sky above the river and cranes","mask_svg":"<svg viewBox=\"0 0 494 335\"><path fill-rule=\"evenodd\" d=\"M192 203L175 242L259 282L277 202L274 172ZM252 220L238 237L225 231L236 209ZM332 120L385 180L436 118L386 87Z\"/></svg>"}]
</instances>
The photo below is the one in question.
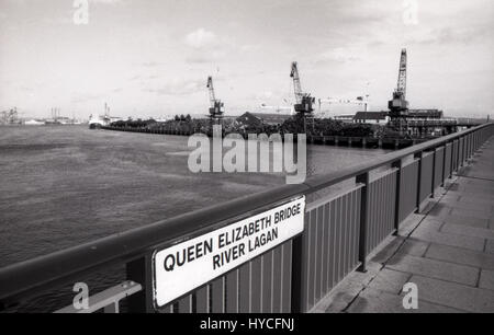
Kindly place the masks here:
<instances>
[{"instance_id":1,"label":"pale overcast sky above the river and cranes","mask_svg":"<svg viewBox=\"0 0 494 335\"><path fill-rule=\"evenodd\" d=\"M492 0L0 0L0 111L88 117L201 114L212 74L227 114L292 96L290 63L316 97L385 108L408 50L413 108L493 108ZM408 18L408 20L406 20Z\"/></svg>"}]
</instances>

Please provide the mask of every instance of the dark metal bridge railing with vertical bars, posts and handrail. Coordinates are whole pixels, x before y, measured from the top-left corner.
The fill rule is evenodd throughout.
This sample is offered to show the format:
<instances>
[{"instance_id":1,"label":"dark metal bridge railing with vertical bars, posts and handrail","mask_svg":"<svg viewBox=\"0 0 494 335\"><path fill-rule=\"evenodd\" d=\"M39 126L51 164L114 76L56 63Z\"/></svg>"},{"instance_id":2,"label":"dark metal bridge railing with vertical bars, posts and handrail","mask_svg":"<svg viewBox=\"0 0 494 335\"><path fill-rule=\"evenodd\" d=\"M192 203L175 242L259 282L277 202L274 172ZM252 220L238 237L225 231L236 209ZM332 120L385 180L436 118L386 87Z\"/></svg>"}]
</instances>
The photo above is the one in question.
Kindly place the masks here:
<instances>
[{"instance_id":1,"label":"dark metal bridge railing with vertical bars, posts and handrail","mask_svg":"<svg viewBox=\"0 0 494 335\"><path fill-rule=\"evenodd\" d=\"M349 273L364 270L368 255L434 197L435 189L492 135L494 124L478 126L300 185L280 186L4 267L0 304L8 308L108 266L125 265L127 286L92 297L98 304L91 311L116 312L126 297L128 312L307 312ZM381 169L378 174L377 169ZM345 181L353 183L336 195L323 194ZM303 233L155 309L154 252L302 195L307 199Z\"/></svg>"}]
</instances>

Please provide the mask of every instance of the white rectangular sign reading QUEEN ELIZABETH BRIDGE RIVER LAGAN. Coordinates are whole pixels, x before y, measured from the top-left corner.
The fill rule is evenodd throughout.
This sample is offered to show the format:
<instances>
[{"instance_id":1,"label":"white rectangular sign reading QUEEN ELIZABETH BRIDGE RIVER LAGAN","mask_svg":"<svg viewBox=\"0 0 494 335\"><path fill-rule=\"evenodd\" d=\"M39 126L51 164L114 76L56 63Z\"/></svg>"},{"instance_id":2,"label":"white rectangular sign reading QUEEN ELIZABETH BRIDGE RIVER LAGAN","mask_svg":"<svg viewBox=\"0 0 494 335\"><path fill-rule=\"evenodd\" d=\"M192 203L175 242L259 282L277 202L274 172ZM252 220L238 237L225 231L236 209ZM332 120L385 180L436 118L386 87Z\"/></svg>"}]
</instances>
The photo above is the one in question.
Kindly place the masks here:
<instances>
[{"instance_id":1,"label":"white rectangular sign reading QUEEN ELIZABETH BRIDGE RIVER LAGAN","mask_svg":"<svg viewBox=\"0 0 494 335\"><path fill-rule=\"evenodd\" d=\"M304 230L305 197L155 253L154 298L164 307Z\"/></svg>"}]
</instances>

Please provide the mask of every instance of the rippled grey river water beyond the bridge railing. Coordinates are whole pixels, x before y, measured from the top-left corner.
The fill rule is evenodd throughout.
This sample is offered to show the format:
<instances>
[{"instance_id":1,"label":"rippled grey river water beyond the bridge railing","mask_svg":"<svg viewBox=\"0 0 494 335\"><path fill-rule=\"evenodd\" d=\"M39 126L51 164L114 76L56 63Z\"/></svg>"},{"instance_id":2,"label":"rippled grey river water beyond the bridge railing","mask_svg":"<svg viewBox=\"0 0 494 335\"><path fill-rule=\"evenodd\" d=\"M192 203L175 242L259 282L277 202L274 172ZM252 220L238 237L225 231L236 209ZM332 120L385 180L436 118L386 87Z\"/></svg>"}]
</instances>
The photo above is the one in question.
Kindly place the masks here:
<instances>
[{"instance_id":1,"label":"rippled grey river water beyond the bridge railing","mask_svg":"<svg viewBox=\"0 0 494 335\"><path fill-rule=\"evenodd\" d=\"M199 173L188 138L87 126L0 127L0 267L284 184ZM308 146L307 173L384 150Z\"/></svg>"}]
</instances>

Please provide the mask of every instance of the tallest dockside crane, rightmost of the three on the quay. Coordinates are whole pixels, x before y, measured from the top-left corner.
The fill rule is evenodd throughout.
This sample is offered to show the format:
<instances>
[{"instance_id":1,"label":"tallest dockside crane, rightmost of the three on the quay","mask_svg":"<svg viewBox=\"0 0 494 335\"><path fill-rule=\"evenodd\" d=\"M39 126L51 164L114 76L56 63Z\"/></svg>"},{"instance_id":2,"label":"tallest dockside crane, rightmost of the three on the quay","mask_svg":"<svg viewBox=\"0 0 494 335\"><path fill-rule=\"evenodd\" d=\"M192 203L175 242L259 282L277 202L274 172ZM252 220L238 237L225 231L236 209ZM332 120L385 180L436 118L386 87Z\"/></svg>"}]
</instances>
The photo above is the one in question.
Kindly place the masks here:
<instances>
[{"instance_id":1,"label":"tallest dockside crane, rightmost of the three on the quay","mask_svg":"<svg viewBox=\"0 0 494 335\"><path fill-rule=\"evenodd\" d=\"M388 103L390 108L390 123L400 134L407 131L406 117L408 115L408 101L406 101L406 49L402 49L396 90L393 100Z\"/></svg>"}]
</instances>

